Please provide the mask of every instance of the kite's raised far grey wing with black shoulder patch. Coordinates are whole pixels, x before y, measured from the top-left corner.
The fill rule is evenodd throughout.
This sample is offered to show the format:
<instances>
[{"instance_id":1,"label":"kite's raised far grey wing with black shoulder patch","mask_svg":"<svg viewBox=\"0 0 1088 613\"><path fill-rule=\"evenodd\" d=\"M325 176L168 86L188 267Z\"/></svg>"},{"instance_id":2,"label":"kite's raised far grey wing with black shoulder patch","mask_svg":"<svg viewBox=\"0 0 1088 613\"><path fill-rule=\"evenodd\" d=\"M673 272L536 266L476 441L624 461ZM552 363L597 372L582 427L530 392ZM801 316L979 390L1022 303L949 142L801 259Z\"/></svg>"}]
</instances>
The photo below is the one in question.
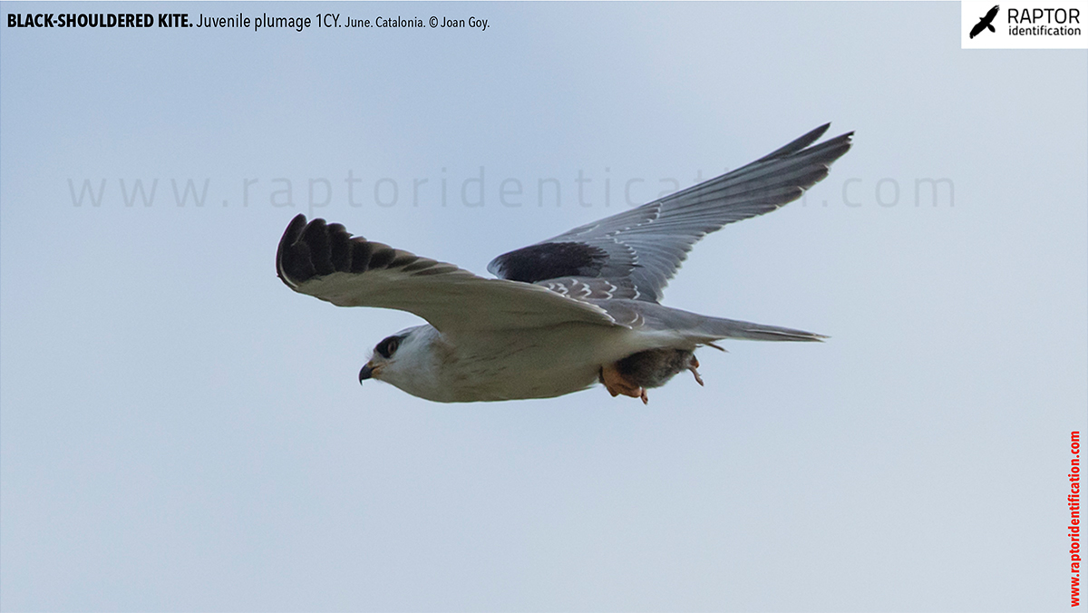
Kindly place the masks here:
<instances>
[{"instance_id":1,"label":"kite's raised far grey wing with black shoulder patch","mask_svg":"<svg viewBox=\"0 0 1088 613\"><path fill-rule=\"evenodd\" d=\"M831 162L850 149L853 135L809 146L830 125L716 179L503 254L487 270L500 279L527 283L604 279L621 293L615 297L657 302L700 238L727 223L796 200L827 176Z\"/></svg>"}]
</instances>

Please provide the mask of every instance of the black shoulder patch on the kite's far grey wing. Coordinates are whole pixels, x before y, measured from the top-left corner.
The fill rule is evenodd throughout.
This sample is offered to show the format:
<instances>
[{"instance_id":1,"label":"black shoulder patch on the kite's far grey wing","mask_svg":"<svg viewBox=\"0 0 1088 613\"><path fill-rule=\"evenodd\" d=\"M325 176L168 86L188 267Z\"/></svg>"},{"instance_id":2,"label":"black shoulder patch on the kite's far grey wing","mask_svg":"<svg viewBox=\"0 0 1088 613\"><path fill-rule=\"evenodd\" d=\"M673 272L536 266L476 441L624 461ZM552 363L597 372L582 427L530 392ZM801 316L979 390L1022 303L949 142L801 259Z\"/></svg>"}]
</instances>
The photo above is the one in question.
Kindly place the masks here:
<instances>
[{"instance_id":1,"label":"black shoulder patch on the kite's far grey wing","mask_svg":"<svg viewBox=\"0 0 1088 613\"><path fill-rule=\"evenodd\" d=\"M585 243L544 243L503 254L487 268L500 279L535 283L560 277L596 277L608 260Z\"/></svg>"}]
</instances>

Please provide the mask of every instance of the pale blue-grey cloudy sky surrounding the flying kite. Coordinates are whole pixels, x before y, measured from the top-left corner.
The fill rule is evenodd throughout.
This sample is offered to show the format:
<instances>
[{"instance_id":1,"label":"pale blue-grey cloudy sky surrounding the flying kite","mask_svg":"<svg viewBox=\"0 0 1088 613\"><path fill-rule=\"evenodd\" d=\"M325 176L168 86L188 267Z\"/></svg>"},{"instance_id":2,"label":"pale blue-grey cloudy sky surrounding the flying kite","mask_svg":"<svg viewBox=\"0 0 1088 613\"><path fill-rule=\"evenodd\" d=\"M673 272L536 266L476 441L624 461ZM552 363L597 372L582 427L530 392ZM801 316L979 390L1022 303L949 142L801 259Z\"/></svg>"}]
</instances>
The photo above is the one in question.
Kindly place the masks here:
<instances>
[{"instance_id":1,"label":"pale blue-grey cloudy sky surrounding the flying kite","mask_svg":"<svg viewBox=\"0 0 1088 613\"><path fill-rule=\"evenodd\" d=\"M1088 51L961 50L953 2L2 4L111 11L487 29L0 26L0 609L1068 606ZM275 277L298 212L484 273L828 121L665 304L831 339L648 406L360 387L419 321Z\"/></svg>"}]
</instances>

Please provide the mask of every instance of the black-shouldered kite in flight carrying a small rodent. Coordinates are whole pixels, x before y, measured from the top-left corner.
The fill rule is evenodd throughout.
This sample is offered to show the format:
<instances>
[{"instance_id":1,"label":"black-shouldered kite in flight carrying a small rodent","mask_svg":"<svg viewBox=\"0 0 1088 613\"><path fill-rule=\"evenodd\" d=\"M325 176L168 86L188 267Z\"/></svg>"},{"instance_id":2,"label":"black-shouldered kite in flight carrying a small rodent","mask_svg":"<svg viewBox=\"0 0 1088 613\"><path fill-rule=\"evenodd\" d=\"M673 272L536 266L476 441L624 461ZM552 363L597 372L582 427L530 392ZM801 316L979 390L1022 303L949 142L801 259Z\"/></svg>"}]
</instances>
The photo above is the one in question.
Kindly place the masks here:
<instances>
[{"instance_id":1,"label":"black-shouldered kite in flight carrying a small rodent","mask_svg":"<svg viewBox=\"0 0 1088 613\"><path fill-rule=\"evenodd\" d=\"M276 252L292 290L337 306L392 308L426 324L386 336L359 371L435 402L561 396L604 383L646 390L691 371L695 350L726 339L819 341L801 330L659 304L688 252L727 223L796 200L845 154L853 133L821 125L758 160L576 228L487 265L497 279L295 217Z\"/></svg>"}]
</instances>

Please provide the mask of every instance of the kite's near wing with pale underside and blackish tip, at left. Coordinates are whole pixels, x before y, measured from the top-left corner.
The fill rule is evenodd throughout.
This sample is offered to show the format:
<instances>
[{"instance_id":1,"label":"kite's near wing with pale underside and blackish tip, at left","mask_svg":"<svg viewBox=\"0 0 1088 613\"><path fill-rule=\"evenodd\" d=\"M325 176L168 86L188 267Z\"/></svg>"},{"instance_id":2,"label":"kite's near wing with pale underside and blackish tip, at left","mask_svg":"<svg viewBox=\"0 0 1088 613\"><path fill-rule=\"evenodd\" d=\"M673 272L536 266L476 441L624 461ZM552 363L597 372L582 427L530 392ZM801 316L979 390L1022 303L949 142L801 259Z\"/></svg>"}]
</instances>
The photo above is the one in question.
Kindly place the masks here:
<instances>
[{"instance_id":1,"label":"kite's near wing with pale underside and blackish tip, at left","mask_svg":"<svg viewBox=\"0 0 1088 613\"><path fill-rule=\"evenodd\" d=\"M416 314L443 333L539 328L566 322L614 326L604 309L528 283L483 279L452 263L351 236L323 219L290 220L276 274L288 287L337 306Z\"/></svg>"}]
</instances>

